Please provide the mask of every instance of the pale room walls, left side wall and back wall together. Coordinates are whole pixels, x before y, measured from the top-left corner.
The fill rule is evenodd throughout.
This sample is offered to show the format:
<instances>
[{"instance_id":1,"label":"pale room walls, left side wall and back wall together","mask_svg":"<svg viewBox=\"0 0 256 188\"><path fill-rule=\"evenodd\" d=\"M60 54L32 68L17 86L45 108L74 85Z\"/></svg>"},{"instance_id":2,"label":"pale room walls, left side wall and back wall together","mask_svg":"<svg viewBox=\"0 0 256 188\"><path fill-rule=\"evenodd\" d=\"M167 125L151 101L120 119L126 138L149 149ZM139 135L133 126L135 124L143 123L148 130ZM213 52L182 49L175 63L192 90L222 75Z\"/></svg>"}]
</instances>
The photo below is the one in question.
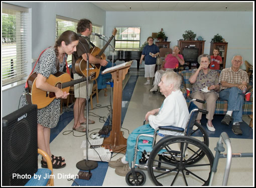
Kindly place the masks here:
<instances>
[{"instance_id":1,"label":"pale room walls, left side wall and back wall together","mask_svg":"<svg viewBox=\"0 0 256 188\"><path fill-rule=\"evenodd\" d=\"M253 63L253 12L105 12L90 2L8 2L30 8L31 52L29 58L37 58L40 52L55 42L56 15L73 19L88 18L94 24L103 25L104 35L110 36L115 26L141 26L141 45L152 32L164 28L171 47L177 45L185 30L194 31L205 42L204 52L209 53L211 38L219 33L228 42L226 67L231 65L234 54ZM113 44L113 41L111 42ZM106 49L105 54L109 52ZM31 61L32 62L32 61ZM133 64L136 67L136 64ZM245 69L245 66L242 66ZM24 84L2 91L2 115L18 109Z\"/></svg>"}]
</instances>

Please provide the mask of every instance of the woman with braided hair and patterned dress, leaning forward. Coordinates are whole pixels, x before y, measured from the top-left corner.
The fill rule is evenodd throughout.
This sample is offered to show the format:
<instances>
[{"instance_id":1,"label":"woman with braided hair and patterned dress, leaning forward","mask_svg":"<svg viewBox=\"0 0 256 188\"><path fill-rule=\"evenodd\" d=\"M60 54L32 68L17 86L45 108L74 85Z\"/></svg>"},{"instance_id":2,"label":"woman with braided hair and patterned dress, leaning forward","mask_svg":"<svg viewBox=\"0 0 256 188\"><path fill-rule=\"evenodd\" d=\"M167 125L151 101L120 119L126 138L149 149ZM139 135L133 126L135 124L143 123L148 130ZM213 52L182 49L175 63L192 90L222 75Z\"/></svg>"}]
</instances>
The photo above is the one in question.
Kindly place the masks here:
<instances>
[{"instance_id":1,"label":"woman with braided hair and patterned dress, leaning forward","mask_svg":"<svg viewBox=\"0 0 256 188\"><path fill-rule=\"evenodd\" d=\"M61 156L54 156L50 150L50 131L54 128L60 116L60 98L67 98L69 94L60 88L47 82L51 74L63 71L66 65L67 55L76 50L78 36L75 32L67 30L63 32L54 46L47 48L39 57L38 63L33 72L37 73L36 87L43 91L54 92L56 98L46 107L38 109L38 147L48 153L52 158L53 168L66 166L65 159ZM24 93L26 90L24 89ZM28 104L26 96L22 96L22 106ZM42 167L47 167L45 158L41 160Z\"/></svg>"}]
</instances>

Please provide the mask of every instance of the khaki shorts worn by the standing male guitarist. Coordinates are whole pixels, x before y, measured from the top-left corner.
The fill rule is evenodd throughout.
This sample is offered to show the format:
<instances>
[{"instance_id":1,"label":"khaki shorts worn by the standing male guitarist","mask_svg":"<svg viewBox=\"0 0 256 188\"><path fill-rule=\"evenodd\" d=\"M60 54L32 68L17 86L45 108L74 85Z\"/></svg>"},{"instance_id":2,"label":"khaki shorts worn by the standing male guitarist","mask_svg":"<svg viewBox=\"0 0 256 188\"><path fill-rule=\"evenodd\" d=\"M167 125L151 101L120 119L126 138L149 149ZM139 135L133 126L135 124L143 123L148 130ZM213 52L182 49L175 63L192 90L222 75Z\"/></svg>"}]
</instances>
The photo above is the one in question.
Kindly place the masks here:
<instances>
[{"instance_id":1,"label":"khaki shorts worn by the standing male guitarist","mask_svg":"<svg viewBox=\"0 0 256 188\"><path fill-rule=\"evenodd\" d=\"M74 73L74 79L82 78L77 73ZM88 85L88 95L90 96L92 93L93 80L89 80ZM86 98L86 81L77 83L74 85L74 92L76 98Z\"/></svg>"}]
</instances>

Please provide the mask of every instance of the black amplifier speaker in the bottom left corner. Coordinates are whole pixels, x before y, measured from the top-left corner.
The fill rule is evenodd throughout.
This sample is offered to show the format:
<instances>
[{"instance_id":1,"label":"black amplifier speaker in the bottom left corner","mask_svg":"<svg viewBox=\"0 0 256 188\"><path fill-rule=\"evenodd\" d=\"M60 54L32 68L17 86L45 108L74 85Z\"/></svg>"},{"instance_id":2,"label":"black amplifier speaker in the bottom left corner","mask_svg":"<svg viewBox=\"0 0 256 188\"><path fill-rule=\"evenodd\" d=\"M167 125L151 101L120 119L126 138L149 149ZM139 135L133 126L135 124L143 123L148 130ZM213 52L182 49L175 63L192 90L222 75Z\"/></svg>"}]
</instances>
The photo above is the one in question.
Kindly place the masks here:
<instances>
[{"instance_id":1,"label":"black amplifier speaker in the bottom left corner","mask_svg":"<svg viewBox=\"0 0 256 188\"><path fill-rule=\"evenodd\" d=\"M38 170L37 105L2 118L2 185L23 186Z\"/></svg>"}]
</instances>

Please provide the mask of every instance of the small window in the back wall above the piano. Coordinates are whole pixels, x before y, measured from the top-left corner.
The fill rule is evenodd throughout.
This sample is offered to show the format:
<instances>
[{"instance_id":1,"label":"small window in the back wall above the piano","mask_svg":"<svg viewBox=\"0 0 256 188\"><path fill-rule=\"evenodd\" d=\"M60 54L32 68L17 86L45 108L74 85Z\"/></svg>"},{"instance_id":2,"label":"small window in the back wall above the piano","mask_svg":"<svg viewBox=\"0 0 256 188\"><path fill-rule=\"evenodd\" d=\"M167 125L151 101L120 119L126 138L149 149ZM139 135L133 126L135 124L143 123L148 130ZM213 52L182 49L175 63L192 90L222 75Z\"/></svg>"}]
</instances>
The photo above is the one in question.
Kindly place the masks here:
<instances>
[{"instance_id":1,"label":"small window in the back wall above the piano","mask_svg":"<svg viewBox=\"0 0 256 188\"><path fill-rule=\"evenodd\" d=\"M116 27L115 50L136 51L140 47L141 27Z\"/></svg>"}]
</instances>

